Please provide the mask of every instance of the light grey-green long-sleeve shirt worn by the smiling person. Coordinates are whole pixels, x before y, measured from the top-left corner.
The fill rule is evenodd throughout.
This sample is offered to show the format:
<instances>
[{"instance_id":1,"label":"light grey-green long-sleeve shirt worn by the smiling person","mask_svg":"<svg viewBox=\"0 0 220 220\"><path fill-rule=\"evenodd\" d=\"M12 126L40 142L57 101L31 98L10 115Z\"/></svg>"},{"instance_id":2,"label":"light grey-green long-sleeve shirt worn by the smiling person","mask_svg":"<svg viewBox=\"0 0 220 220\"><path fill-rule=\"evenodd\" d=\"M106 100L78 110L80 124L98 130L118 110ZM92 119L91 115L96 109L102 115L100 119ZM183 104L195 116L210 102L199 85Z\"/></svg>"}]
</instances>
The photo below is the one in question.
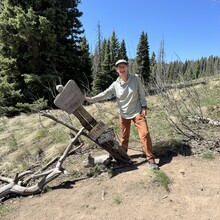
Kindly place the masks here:
<instances>
[{"instance_id":1,"label":"light grey-green long-sleeve shirt worn by the smiling person","mask_svg":"<svg viewBox=\"0 0 220 220\"><path fill-rule=\"evenodd\" d=\"M92 102L101 101L116 96L120 115L125 119L134 118L146 107L144 86L138 75L128 74L128 80L124 82L119 77L108 89L92 97Z\"/></svg>"}]
</instances>

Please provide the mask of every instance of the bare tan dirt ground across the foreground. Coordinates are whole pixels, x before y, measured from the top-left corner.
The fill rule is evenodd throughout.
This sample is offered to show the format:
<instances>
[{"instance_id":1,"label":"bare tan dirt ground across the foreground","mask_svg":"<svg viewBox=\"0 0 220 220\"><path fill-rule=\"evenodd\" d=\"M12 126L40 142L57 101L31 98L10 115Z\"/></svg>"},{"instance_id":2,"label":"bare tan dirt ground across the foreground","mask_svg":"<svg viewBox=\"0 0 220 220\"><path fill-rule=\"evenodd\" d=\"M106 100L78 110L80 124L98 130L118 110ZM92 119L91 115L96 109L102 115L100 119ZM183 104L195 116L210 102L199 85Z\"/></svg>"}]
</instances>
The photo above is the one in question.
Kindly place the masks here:
<instances>
[{"instance_id":1,"label":"bare tan dirt ground across the foreground","mask_svg":"<svg viewBox=\"0 0 220 220\"><path fill-rule=\"evenodd\" d=\"M157 161L171 179L170 191L159 186L146 160L128 152L135 163L109 178L74 181L12 202L4 220L146 220L220 219L220 157L194 156Z\"/></svg>"}]
</instances>

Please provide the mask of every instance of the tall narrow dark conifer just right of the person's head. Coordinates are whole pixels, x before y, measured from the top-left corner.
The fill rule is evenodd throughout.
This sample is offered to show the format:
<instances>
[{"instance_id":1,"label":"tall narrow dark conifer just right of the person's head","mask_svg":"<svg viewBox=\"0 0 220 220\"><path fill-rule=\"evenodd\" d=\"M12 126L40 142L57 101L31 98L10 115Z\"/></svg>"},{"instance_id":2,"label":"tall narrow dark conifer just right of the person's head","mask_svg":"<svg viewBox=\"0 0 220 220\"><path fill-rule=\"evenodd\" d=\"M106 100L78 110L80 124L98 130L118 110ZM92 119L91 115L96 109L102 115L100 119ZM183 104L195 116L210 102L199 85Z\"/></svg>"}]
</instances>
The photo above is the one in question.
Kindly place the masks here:
<instances>
[{"instance_id":1,"label":"tall narrow dark conifer just right of the person's head","mask_svg":"<svg viewBox=\"0 0 220 220\"><path fill-rule=\"evenodd\" d=\"M150 82L150 58L147 33L142 32L137 48L138 75L144 83Z\"/></svg>"}]
</instances>

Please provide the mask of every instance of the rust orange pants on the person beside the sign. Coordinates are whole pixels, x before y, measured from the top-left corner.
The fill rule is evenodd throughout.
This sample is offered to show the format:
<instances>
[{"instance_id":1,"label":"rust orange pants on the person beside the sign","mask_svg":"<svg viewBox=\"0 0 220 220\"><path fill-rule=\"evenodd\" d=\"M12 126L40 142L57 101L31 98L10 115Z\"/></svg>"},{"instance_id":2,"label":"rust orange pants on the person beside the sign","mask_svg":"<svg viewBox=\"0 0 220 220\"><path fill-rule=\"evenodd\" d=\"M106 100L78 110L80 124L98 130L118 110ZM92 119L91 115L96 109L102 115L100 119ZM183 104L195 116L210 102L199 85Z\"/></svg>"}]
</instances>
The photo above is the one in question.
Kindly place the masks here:
<instances>
[{"instance_id":1,"label":"rust orange pants on the person beside the sign","mask_svg":"<svg viewBox=\"0 0 220 220\"><path fill-rule=\"evenodd\" d=\"M138 129L139 138L143 145L144 152L146 153L147 160L154 159L155 156L153 155L152 141L151 141L147 121L146 118L141 114L138 114L131 119L124 119L121 116L119 117L119 123L122 131L122 137L121 137L122 148L126 152L128 151L131 121L134 122L135 127Z\"/></svg>"}]
</instances>

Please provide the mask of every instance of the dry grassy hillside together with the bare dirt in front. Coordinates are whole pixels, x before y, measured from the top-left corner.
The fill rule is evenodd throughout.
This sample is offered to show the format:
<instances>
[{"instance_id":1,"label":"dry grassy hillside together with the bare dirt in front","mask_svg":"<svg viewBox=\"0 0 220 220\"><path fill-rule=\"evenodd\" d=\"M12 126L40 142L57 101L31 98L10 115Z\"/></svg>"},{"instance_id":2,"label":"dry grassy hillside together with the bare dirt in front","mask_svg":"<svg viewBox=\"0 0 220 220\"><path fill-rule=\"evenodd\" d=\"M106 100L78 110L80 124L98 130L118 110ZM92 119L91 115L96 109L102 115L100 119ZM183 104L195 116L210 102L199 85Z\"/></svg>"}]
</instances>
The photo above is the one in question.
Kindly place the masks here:
<instances>
[{"instance_id":1,"label":"dry grassy hillside together with the bare dirt in front","mask_svg":"<svg viewBox=\"0 0 220 220\"><path fill-rule=\"evenodd\" d=\"M206 117L215 120L220 120L219 88L218 77L210 79L205 86L197 87L201 91L209 91L201 99L201 108ZM164 118L160 99L149 96L147 100L147 118L153 142L180 140L181 136L174 132ZM98 103L85 108L97 120L104 121L119 133L114 102ZM74 117L59 110L51 112L80 128ZM157 158L159 174L165 176L149 170L134 128L128 152L134 163L112 173L83 166L88 153L101 155L106 152L82 138L85 142L83 148L65 161L67 175L62 174L48 184L41 195L2 200L0 216L4 220L122 217L138 220L171 217L219 219L219 127L206 126L206 133L204 129L201 133L215 140L212 142L214 144L200 142L200 145L193 145L191 156L169 155ZM66 127L38 114L1 118L1 175L13 177L16 172L27 170L35 164L46 164L64 151L69 134Z\"/></svg>"}]
</instances>

